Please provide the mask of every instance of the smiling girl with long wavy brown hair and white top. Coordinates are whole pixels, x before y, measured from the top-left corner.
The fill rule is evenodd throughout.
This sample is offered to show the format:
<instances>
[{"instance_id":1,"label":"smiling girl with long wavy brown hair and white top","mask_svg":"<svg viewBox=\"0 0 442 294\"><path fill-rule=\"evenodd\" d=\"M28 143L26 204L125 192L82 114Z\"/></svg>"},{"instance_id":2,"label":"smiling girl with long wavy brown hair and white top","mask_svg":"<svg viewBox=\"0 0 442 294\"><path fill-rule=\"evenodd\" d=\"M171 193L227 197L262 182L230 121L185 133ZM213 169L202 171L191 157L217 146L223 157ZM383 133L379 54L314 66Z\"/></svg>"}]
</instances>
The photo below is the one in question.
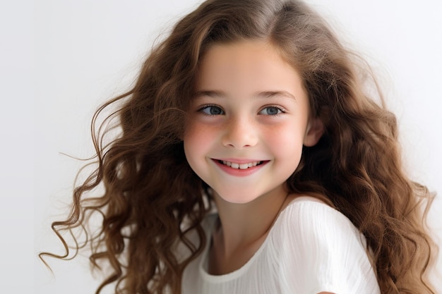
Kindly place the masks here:
<instances>
[{"instance_id":1,"label":"smiling girl with long wavy brown hair and white top","mask_svg":"<svg viewBox=\"0 0 442 294\"><path fill-rule=\"evenodd\" d=\"M363 64L301 1L208 0L180 20L97 111L117 107L103 125L121 133L93 136L97 169L53 223L102 215L97 293L434 293L431 195ZM59 236L66 256L45 254L62 259Z\"/></svg>"}]
</instances>

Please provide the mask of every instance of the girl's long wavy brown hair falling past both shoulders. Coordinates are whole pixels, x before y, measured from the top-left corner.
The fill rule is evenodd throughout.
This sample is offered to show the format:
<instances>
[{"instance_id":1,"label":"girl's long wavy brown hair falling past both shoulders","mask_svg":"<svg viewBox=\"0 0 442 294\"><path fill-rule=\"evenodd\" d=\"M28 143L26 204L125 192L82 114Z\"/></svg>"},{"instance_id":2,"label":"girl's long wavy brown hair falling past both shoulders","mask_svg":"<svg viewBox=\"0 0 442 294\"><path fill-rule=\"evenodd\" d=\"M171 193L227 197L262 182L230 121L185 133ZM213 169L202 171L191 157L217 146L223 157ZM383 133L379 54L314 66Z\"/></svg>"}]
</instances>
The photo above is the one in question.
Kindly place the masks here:
<instances>
[{"instance_id":1,"label":"girl's long wavy brown hair falling past both shoulders","mask_svg":"<svg viewBox=\"0 0 442 294\"><path fill-rule=\"evenodd\" d=\"M66 255L42 255L68 259L62 232L86 228L98 214L100 230L87 231L90 261L111 271L97 293L112 283L117 293L180 293L184 268L208 244L201 222L210 209L207 186L184 156L186 109L205 51L242 39L280 51L301 73L312 114L325 125L318 144L304 147L290 192L323 195L359 228L382 293L434 293L426 273L436 247L425 223L433 195L406 176L395 116L377 87L366 89L369 67L297 0L208 0L182 18L133 88L97 110L96 169L74 190L68 218L52 224ZM105 109L114 112L96 128ZM115 137L106 143L109 134ZM200 242L191 243L189 232ZM177 257L178 243L188 257Z\"/></svg>"}]
</instances>

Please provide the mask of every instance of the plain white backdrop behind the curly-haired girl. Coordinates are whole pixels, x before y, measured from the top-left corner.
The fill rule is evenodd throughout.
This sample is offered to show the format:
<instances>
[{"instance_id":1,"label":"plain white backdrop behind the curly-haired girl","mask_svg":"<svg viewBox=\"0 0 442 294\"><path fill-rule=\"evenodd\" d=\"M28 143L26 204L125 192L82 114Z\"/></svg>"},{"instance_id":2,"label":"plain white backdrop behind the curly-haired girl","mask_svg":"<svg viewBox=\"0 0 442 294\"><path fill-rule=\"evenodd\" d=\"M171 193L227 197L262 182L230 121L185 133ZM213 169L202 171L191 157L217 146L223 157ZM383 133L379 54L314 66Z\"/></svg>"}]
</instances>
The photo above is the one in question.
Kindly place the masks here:
<instances>
[{"instance_id":1,"label":"plain white backdrop behind the curly-haired girl","mask_svg":"<svg viewBox=\"0 0 442 294\"><path fill-rule=\"evenodd\" d=\"M6 139L22 142L25 146L22 150L18 145L8 144L6 150L8 154L20 154L19 157L6 156L6 162L12 166L9 171L17 175L6 178L6 184L15 187L11 190L29 192L20 190L20 186L28 185L26 179L32 183L29 163L32 160L35 163L32 256L35 293L94 293L97 281L91 277L85 257L71 262L49 259L54 275L36 257L37 252L44 250L62 252L50 223L65 215L73 180L82 163L61 153L83 158L92 155L90 119L97 106L129 89L155 39L164 37L169 28L198 3L196 0L40 0L35 4L33 32L23 29L23 23L3 11L5 17L11 19L11 23L5 23L4 32L8 33L8 29L15 26L15 30L31 32L29 35L34 36L33 44L20 41L14 43L18 45L15 49L5 45L11 57L2 56L14 80L21 80L11 82L11 76L3 80L6 81L6 99L2 101L6 101L9 94L11 99L17 93L32 97L32 92L25 91L29 87L32 89L34 82L34 121L26 125L23 119L20 123L29 107L25 100L20 102L14 98L13 109L4 109L2 124L12 130L17 125L21 135L10 130L5 133ZM368 56L378 73L388 106L400 122L407 170L415 180L439 192L429 219L434 237L441 244L442 1L311 0L309 3L330 20L354 49ZM32 6L16 4L15 8L22 17L32 19ZM11 37L12 43L16 40L14 34L8 33L7 37ZM32 48L32 45L35 76L26 85L22 79L29 78L32 61L20 50ZM19 63L24 64L23 68L17 66ZM17 112L18 109L21 111ZM28 112L29 117L32 118L32 114ZM33 159L26 158L32 154ZM18 167L16 158L25 164ZM20 214L32 214L29 210L32 200L17 195L11 201L14 207L20 208ZM16 221L17 214L12 216L7 208L3 209L4 223L20 223ZM32 243L29 238L25 239L25 233L18 237L21 235L18 229L8 231L13 240L9 249L20 250L23 243ZM10 260L16 271L23 274L29 271L30 268L22 267L15 257ZM439 269L441 260L439 257ZM6 286L23 283L20 274L10 276ZM442 292L441 286L438 287Z\"/></svg>"}]
</instances>

